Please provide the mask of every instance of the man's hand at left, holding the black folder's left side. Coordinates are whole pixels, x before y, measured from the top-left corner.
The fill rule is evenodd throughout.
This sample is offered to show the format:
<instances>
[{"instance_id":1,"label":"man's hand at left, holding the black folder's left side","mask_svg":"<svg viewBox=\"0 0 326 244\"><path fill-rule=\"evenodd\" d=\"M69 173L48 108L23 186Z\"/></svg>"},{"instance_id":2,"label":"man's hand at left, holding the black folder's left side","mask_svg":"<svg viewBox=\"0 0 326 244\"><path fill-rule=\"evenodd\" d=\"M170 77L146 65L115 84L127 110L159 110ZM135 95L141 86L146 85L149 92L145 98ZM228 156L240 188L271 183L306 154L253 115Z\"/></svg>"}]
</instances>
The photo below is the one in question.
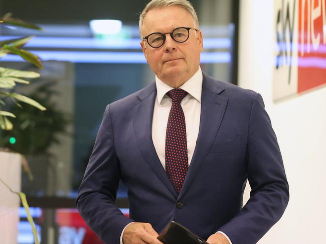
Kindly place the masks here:
<instances>
[{"instance_id":1,"label":"man's hand at left, holding the black folder's left side","mask_svg":"<svg viewBox=\"0 0 326 244\"><path fill-rule=\"evenodd\" d=\"M157 232L150 223L130 223L123 232L123 244L163 244L156 237Z\"/></svg>"}]
</instances>

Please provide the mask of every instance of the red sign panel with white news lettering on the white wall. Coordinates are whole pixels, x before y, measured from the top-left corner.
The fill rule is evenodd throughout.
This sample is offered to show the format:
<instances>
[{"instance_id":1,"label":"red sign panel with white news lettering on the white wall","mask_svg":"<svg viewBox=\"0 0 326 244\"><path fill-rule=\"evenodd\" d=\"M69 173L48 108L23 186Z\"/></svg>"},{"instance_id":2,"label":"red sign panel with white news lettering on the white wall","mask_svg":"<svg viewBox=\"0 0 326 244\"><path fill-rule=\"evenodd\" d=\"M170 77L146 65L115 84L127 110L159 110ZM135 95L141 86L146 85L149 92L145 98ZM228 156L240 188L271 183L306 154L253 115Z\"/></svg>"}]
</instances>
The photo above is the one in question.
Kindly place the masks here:
<instances>
[{"instance_id":1,"label":"red sign panel with white news lettering on the white wall","mask_svg":"<svg viewBox=\"0 0 326 244\"><path fill-rule=\"evenodd\" d=\"M326 0L299 0L297 91L326 84Z\"/></svg>"}]
</instances>

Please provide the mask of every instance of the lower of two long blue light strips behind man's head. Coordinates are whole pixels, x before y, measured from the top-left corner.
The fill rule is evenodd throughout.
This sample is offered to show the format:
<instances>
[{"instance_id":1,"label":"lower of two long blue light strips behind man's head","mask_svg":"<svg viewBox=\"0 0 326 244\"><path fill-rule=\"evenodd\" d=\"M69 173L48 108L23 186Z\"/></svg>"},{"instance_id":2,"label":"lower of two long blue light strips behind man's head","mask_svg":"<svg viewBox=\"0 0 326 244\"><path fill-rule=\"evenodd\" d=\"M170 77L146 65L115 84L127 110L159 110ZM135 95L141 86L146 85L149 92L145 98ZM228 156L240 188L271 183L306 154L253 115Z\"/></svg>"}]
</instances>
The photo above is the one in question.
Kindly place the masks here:
<instances>
[{"instance_id":1,"label":"lower of two long blue light strips behind man's head","mask_svg":"<svg viewBox=\"0 0 326 244\"><path fill-rule=\"evenodd\" d=\"M33 51L42 60L70 61L76 63L146 63L142 52L100 51ZM17 55L6 55L0 61L22 61ZM230 62L229 52L202 52L201 63Z\"/></svg>"}]
</instances>

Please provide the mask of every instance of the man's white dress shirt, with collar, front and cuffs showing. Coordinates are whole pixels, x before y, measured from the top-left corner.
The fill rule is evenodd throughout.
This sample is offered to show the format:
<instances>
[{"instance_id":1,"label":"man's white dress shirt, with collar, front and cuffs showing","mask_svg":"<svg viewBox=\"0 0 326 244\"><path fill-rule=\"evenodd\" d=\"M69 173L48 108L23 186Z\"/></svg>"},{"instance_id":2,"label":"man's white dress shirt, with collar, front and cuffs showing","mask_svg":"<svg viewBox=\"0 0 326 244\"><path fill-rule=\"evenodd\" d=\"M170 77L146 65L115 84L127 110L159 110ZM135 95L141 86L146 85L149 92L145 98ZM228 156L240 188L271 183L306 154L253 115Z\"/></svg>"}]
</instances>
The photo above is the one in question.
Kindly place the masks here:
<instances>
[{"instance_id":1,"label":"man's white dress shirt, with collar, front and cuffs showing","mask_svg":"<svg viewBox=\"0 0 326 244\"><path fill-rule=\"evenodd\" d=\"M155 83L157 93L154 103L151 138L153 140L153 144L158 158L165 169L165 138L167 133L169 113L172 106L172 98L170 98L166 93L174 88L161 81L157 76L155 76ZM185 114L189 165L194 154L196 140L199 132L202 84L203 73L201 68L199 67L198 71L182 86L179 87L188 92L188 94L185 96L185 98L181 101L180 104ZM122 236L124 229L122 230L120 236L120 244L123 244ZM218 232L222 233L229 240L230 244L232 244L231 240L225 233L223 233L222 231Z\"/></svg>"}]
</instances>

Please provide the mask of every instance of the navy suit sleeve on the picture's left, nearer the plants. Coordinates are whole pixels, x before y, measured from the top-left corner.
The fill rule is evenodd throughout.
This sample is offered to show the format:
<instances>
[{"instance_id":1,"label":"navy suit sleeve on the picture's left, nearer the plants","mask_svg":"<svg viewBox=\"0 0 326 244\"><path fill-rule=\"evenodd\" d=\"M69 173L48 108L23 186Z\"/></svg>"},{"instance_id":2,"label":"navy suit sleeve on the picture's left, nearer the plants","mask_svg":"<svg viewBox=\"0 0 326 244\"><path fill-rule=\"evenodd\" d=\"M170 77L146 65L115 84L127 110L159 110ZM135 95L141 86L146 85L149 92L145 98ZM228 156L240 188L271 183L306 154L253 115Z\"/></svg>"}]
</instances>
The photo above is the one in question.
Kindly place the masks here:
<instances>
[{"instance_id":1,"label":"navy suit sleeve on the picture's left, nearer the plants","mask_svg":"<svg viewBox=\"0 0 326 244\"><path fill-rule=\"evenodd\" d=\"M120 178L108 105L77 197L81 216L105 243L120 243L122 229L133 221L115 206Z\"/></svg>"}]
</instances>

